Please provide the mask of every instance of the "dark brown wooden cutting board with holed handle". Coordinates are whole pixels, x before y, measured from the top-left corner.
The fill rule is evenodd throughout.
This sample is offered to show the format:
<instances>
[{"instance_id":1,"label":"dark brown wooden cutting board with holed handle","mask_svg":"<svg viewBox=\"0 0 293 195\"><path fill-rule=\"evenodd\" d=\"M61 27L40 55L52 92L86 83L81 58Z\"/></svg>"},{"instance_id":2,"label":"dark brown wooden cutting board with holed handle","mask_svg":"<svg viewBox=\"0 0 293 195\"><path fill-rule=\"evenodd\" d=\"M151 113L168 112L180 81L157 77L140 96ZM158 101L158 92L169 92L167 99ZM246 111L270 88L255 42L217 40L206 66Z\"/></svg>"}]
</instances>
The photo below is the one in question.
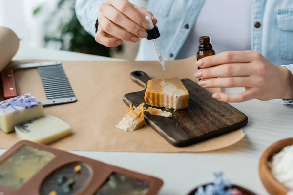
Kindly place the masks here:
<instances>
[{"instance_id":1,"label":"dark brown wooden cutting board with holed handle","mask_svg":"<svg viewBox=\"0 0 293 195\"><path fill-rule=\"evenodd\" d=\"M145 102L146 83L151 78L142 71L130 74L131 80L145 88L123 97L126 105L137 107ZM211 93L190 79L181 80L189 92L188 108L167 111L173 117L162 117L144 112L146 123L176 147L185 147L217 137L245 126L247 116L228 103L211 97ZM146 109L148 105L145 102ZM165 110L164 108L162 108ZM149 140L151 141L151 140Z\"/></svg>"}]
</instances>

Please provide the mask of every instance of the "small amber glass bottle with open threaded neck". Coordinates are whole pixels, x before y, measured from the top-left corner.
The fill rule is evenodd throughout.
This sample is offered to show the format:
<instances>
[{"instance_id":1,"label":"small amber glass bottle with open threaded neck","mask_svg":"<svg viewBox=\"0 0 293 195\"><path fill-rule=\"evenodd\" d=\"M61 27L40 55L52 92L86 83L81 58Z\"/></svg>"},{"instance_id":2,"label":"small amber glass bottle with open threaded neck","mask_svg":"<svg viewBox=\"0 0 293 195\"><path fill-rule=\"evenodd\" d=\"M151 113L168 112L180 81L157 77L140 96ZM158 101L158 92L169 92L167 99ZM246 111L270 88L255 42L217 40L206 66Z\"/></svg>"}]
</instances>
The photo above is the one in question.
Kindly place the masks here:
<instances>
[{"instance_id":1,"label":"small amber glass bottle with open threaded neck","mask_svg":"<svg viewBox=\"0 0 293 195\"><path fill-rule=\"evenodd\" d=\"M212 49L209 36L200 37L198 51L196 53L196 59L199 60L206 56L212 56L215 54L216 52Z\"/></svg>"}]
</instances>

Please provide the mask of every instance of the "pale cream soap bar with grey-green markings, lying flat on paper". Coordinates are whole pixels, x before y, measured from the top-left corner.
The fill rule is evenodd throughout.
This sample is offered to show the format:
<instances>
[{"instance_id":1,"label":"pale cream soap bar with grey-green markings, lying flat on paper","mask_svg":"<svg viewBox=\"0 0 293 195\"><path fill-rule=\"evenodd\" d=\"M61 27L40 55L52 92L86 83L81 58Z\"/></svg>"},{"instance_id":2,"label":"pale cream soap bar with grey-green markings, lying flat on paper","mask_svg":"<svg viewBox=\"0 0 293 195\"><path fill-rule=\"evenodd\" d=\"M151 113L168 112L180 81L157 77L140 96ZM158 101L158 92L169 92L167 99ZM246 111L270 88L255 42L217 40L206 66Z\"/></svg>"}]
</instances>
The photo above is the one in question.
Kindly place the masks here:
<instances>
[{"instance_id":1,"label":"pale cream soap bar with grey-green markings, lying flat on paper","mask_svg":"<svg viewBox=\"0 0 293 195\"><path fill-rule=\"evenodd\" d=\"M45 115L15 126L15 133L20 140L49 144L72 132L71 127L63 120L52 115Z\"/></svg>"}]
</instances>

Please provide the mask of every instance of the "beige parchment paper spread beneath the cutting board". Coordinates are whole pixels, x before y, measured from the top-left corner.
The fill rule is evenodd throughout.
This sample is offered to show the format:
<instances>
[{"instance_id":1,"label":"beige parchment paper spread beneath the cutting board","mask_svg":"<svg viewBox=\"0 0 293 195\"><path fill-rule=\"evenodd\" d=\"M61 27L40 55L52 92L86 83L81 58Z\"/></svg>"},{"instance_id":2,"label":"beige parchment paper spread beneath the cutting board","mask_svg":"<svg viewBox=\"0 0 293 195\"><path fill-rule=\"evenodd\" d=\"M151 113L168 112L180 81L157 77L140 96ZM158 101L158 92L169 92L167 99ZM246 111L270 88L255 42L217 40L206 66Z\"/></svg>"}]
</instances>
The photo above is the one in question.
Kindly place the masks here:
<instances>
[{"instance_id":1,"label":"beige parchment paper spread beneath the cutting board","mask_svg":"<svg viewBox=\"0 0 293 195\"><path fill-rule=\"evenodd\" d=\"M64 71L78 101L44 110L45 114L59 117L71 125L73 134L50 145L77 151L205 152L240 141L245 136L241 129L193 146L176 148L149 126L133 132L115 127L128 110L123 96L143 90L129 78L132 71L144 71L151 78L178 76L198 82L193 78L197 70L195 61L195 56L167 61L165 71L157 61L63 61ZM27 62L32 61L14 61L11 65ZM18 94L30 92L40 100L45 99L37 69L17 71L14 76ZM212 92L219 90L209 89ZM17 141L14 132L5 134L0 131L0 148L9 148Z\"/></svg>"}]
</instances>

